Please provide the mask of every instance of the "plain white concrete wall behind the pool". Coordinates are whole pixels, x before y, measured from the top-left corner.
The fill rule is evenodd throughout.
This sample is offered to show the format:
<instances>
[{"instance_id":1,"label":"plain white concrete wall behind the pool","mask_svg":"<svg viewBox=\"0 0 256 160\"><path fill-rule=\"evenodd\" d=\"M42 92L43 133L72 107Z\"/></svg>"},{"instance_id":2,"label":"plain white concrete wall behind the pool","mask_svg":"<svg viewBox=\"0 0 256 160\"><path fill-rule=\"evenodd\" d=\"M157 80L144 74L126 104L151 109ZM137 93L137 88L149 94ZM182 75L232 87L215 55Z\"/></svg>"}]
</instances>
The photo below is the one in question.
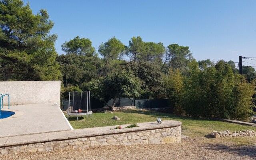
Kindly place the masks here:
<instances>
[{"instance_id":1,"label":"plain white concrete wall behind the pool","mask_svg":"<svg viewBox=\"0 0 256 160\"><path fill-rule=\"evenodd\" d=\"M0 94L10 95L10 105L55 103L60 105L60 81L0 82ZM4 96L8 105L8 96Z\"/></svg>"}]
</instances>

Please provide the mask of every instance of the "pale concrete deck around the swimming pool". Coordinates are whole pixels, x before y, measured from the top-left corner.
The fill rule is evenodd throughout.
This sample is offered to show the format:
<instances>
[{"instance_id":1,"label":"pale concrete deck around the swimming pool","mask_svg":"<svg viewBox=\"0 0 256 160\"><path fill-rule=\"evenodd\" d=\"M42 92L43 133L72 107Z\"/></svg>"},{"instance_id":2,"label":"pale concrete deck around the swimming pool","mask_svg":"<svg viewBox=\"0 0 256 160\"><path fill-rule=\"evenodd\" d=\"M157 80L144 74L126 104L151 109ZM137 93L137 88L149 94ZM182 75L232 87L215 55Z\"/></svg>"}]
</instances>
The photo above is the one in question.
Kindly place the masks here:
<instances>
[{"instance_id":1,"label":"pale concrete deck around the swimming pool","mask_svg":"<svg viewBox=\"0 0 256 160\"><path fill-rule=\"evenodd\" d=\"M1 110L15 112L13 116L0 120L0 138L29 134L68 131L73 128L54 103L10 106Z\"/></svg>"}]
</instances>

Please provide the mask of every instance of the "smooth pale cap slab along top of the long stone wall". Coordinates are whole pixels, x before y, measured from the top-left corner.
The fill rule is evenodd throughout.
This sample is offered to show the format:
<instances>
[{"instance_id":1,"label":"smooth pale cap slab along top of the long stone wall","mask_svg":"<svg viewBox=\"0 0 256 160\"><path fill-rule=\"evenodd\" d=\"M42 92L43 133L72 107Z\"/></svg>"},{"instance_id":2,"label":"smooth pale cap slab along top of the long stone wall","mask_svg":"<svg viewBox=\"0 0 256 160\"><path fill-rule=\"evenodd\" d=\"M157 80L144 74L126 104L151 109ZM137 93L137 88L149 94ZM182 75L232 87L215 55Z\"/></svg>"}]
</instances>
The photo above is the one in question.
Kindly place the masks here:
<instances>
[{"instance_id":1,"label":"smooth pale cap slab along top of the long stone wall","mask_svg":"<svg viewBox=\"0 0 256 160\"><path fill-rule=\"evenodd\" d=\"M36 144L50 141L61 141L76 138L86 138L93 136L104 136L110 134L121 134L127 132L137 132L152 129L170 128L182 125L182 122L175 120L164 120L162 124L157 122L144 122L138 123L139 127L124 128L129 124L120 125L123 129L114 129L116 126L96 127L96 128L84 128L77 130L59 131L59 132L48 132L39 134L29 134L22 136L10 136L0 138L0 147L9 146L21 146L27 144Z\"/></svg>"}]
</instances>

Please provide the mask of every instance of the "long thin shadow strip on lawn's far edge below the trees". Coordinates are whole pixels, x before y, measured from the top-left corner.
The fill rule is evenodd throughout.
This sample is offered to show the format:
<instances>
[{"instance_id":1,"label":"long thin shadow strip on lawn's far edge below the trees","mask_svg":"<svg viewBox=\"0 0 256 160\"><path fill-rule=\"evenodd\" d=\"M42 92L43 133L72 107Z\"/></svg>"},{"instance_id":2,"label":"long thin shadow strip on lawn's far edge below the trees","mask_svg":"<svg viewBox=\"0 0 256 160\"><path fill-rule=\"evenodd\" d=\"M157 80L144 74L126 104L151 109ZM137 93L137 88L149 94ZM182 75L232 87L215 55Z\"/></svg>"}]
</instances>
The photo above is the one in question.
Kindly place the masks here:
<instances>
[{"instance_id":1,"label":"long thin shadow strip on lawn's far edge below the trees","mask_svg":"<svg viewBox=\"0 0 256 160\"><path fill-rule=\"evenodd\" d=\"M162 113L162 112L155 112L155 111L144 111L144 110L123 110L121 112L124 113L137 113L137 114L145 114L152 116L154 118L172 118L172 119L181 119L181 120L207 120L202 118L194 118L189 116L181 116L176 114L169 114L169 113Z\"/></svg>"}]
</instances>

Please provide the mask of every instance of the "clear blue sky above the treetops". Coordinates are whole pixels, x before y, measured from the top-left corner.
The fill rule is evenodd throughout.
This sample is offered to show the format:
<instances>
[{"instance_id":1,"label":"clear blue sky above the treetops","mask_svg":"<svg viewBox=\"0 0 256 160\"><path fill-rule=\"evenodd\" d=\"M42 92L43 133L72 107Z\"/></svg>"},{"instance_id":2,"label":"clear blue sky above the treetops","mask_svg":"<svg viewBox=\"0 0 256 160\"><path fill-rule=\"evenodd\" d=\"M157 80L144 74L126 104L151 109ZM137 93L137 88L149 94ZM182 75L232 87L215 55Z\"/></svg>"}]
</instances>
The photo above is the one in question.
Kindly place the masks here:
<instances>
[{"instance_id":1,"label":"clear blue sky above the treetops","mask_svg":"<svg viewBox=\"0 0 256 160\"><path fill-rule=\"evenodd\" d=\"M24 2L28 2L24 0ZM256 0L29 0L34 14L46 9L55 24L56 51L76 36L98 51L115 36L189 46L196 60L256 57ZM244 59L243 65L256 66ZM255 65L253 65L255 64ZM254 67L256 68L256 67Z\"/></svg>"}]
</instances>

